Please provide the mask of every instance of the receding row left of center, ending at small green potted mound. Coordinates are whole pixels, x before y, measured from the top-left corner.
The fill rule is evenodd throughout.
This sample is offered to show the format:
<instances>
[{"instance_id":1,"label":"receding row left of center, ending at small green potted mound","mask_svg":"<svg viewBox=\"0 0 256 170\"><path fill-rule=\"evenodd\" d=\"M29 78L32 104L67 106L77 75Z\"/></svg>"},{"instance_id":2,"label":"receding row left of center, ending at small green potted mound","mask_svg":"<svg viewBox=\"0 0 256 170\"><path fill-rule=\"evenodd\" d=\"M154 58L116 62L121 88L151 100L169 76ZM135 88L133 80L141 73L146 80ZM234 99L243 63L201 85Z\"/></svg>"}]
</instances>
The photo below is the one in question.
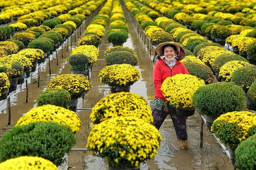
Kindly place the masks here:
<instances>
[{"instance_id":1,"label":"receding row left of center, ending at small green potted mound","mask_svg":"<svg viewBox=\"0 0 256 170\"><path fill-rule=\"evenodd\" d=\"M78 47L75 48L71 55L68 57L68 61L71 64L71 73L88 75L88 70L92 67L93 63L97 61L99 56L99 50L97 49L101 43L101 38L104 36L105 26L108 23L109 13L113 5L113 0L108 0L104 6L100 9L99 14L92 18L89 26L87 26L84 33L84 37L79 40L78 47L81 46L83 52L79 52ZM94 52L91 54L91 50L86 51L83 47L94 46L91 50ZM88 48L89 49L89 48ZM78 51L78 52L76 52Z\"/></svg>"}]
</instances>

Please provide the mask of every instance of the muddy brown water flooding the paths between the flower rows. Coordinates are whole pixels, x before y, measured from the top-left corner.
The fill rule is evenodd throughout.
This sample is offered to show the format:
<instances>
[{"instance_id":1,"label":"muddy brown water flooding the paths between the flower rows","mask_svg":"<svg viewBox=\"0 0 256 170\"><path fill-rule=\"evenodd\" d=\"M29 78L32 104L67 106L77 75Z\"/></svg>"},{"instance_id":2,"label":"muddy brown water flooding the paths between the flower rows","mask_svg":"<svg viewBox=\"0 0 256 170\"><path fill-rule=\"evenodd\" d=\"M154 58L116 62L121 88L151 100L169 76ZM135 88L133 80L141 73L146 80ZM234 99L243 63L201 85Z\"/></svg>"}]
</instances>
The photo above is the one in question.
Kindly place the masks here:
<instances>
[{"instance_id":1,"label":"muddy brown water flooding the paths between the flower rows","mask_svg":"<svg viewBox=\"0 0 256 170\"><path fill-rule=\"evenodd\" d=\"M152 62L153 55L150 55L150 49L144 44L144 40L141 40L135 26L133 26L131 18L126 15L127 23L129 26L129 39L124 46L132 48L139 58L139 66L141 78L131 87L131 92L137 93L143 96L150 104L150 101L154 99L154 86L152 78L152 70L154 63ZM85 28L85 27L83 27ZM107 29L106 29L107 30ZM63 47L59 48L57 53L54 53L50 57L51 75L49 74L49 64L44 63L40 69L40 87L37 87L37 71L31 78L28 79L28 103L26 103L26 88L22 85L20 89L16 91L11 97L11 125L8 126L8 111L7 104L4 103L0 108L0 137L9 128L14 126L17 120L26 113L29 109L36 107L36 98L38 95L46 89L49 81L56 75L70 73L67 57L70 55L72 49L77 46L77 33L76 42L75 35L73 34L69 38L69 42L63 44ZM84 30L82 31L82 35ZM80 34L79 34L80 36ZM71 46L72 40L72 46ZM68 45L68 46L67 46ZM99 47L100 57L103 59L104 51L111 47L106 37L103 37L102 44ZM68 47L68 50L67 50ZM153 51L151 47L151 52ZM62 57L63 55L63 57ZM57 59L58 57L58 65ZM98 60L92 67L90 72L90 80L93 86L105 86L99 82L97 75L98 70L101 70L105 66L104 60ZM109 88L92 88L84 99L80 98L77 108L92 108L101 98L110 93ZM85 148L87 136L90 132L90 110L77 111L80 119L82 120L82 127L79 133L76 134L77 143L74 148ZM168 117L159 132L163 137L158 154L155 159L147 161L146 164L141 164L141 169L233 169L228 160L228 156L222 152L219 144L210 132L204 128L204 147L200 148L200 124L201 117L196 113L194 116L188 118L187 131L188 131L188 150L180 150L177 146L177 139L175 130L172 124L172 120ZM95 157L92 152L70 152L68 154L68 162L59 169L108 169L108 164L104 159Z\"/></svg>"}]
</instances>

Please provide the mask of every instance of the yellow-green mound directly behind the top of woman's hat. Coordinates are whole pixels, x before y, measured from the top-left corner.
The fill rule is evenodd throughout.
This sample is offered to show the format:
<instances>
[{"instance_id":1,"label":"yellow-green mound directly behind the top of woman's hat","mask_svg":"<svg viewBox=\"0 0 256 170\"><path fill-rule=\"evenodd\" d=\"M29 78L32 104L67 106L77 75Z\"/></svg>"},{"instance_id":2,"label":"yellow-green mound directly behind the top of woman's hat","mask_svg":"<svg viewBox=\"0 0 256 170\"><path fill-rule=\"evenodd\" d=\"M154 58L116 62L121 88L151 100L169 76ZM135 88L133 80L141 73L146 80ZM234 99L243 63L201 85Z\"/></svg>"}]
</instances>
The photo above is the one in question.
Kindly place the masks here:
<instances>
[{"instance_id":1,"label":"yellow-green mound directly behind the top of woman's hat","mask_svg":"<svg viewBox=\"0 0 256 170\"><path fill-rule=\"evenodd\" d=\"M152 33L149 39L152 45L158 45L163 42L173 41L172 35L164 31L157 31L156 33Z\"/></svg>"}]
</instances>

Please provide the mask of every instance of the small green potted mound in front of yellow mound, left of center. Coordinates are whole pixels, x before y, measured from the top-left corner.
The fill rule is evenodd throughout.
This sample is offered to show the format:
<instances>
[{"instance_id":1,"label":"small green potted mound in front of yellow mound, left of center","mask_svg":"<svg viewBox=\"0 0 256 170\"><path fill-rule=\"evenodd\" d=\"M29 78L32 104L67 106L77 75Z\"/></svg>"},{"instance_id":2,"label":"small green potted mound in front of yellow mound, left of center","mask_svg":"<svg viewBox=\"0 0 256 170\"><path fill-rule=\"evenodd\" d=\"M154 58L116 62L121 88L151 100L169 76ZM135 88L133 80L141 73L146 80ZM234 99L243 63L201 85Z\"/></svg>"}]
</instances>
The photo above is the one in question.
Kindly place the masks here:
<instances>
[{"instance_id":1,"label":"small green potted mound in front of yellow mound, left of center","mask_svg":"<svg viewBox=\"0 0 256 170\"><path fill-rule=\"evenodd\" d=\"M77 54L70 55L68 57L68 62L72 65L72 67L70 68L71 70L86 71L88 68L88 65L85 65L85 64L89 63L89 57L82 53L77 53Z\"/></svg>"}]
</instances>

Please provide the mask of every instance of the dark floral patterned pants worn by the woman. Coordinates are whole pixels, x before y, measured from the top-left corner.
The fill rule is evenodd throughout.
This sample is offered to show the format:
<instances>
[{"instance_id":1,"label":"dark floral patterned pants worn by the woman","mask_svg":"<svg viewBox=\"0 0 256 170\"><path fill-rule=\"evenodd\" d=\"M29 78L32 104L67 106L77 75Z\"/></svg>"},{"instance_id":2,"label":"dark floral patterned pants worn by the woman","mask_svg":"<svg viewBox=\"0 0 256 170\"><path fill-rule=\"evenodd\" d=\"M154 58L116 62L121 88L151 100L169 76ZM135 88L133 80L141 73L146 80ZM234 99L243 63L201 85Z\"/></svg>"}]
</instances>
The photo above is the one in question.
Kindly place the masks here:
<instances>
[{"instance_id":1,"label":"dark floral patterned pants worn by the woman","mask_svg":"<svg viewBox=\"0 0 256 170\"><path fill-rule=\"evenodd\" d=\"M187 140L188 134L186 129L186 117L177 115L176 108L172 106L163 106L161 111L153 108L152 116L154 118L153 125L159 130L164 122L164 119L170 115L173 126L175 128L176 136L180 140Z\"/></svg>"}]
</instances>

